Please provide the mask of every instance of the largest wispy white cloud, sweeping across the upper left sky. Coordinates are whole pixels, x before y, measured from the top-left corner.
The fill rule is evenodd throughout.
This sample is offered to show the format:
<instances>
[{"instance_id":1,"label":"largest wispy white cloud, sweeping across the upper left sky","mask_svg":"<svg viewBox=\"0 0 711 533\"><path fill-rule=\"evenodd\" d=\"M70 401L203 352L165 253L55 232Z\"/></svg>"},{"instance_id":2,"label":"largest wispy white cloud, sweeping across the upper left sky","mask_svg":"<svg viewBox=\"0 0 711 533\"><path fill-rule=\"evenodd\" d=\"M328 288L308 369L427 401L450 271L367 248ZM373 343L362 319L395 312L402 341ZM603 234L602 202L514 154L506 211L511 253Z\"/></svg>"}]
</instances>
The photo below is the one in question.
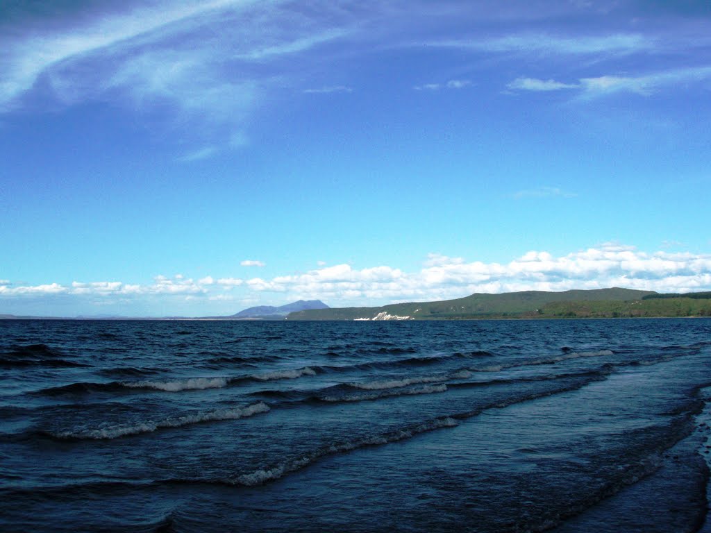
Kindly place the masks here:
<instances>
[{"instance_id":1,"label":"largest wispy white cloud, sweeping across the upper left sky","mask_svg":"<svg viewBox=\"0 0 711 533\"><path fill-rule=\"evenodd\" d=\"M181 161L197 161L245 144L235 135L299 72L293 59L348 35L346 19L277 0L159 0L0 23L0 112L40 89L65 105L110 100L180 128L203 145ZM292 63L264 66L282 58Z\"/></svg>"}]
</instances>

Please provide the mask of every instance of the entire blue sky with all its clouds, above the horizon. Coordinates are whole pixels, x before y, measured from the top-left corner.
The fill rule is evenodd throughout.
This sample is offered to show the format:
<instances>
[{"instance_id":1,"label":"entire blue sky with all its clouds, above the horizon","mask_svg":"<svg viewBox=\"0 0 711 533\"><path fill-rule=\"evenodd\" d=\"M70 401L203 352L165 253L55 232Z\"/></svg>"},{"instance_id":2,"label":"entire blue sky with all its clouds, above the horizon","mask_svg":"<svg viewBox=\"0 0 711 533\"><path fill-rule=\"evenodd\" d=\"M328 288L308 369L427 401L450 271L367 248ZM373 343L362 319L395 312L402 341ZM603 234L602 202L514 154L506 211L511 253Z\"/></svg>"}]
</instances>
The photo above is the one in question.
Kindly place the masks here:
<instances>
[{"instance_id":1,"label":"entire blue sky with all its clouds, above the horizon","mask_svg":"<svg viewBox=\"0 0 711 533\"><path fill-rule=\"evenodd\" d=\"M711 290L711 4L4 0L0 313Z\"/></svg>"}]
</instances>

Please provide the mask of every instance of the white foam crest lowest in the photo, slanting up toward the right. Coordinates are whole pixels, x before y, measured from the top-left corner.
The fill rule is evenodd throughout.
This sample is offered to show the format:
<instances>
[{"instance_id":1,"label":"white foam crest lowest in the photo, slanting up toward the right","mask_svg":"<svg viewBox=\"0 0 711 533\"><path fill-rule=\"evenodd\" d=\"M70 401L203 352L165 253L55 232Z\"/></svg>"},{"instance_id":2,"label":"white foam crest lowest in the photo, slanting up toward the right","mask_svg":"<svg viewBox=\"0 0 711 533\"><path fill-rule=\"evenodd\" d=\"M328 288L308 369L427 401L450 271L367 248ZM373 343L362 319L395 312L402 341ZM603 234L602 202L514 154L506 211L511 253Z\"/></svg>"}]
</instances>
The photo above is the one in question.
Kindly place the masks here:
<instances>
[{"instance_id":1,"label":"white foam crest lowest in the photo, slanting up toward the right","mask_svg":"<svg viewBox=\"0 0 711 533\"><path fill-rule=\"evenodd\" d=\"M237 478L235 479L228 479L225 481L234 485L262 485L263 483L279 479L284 474L300 470L301 468L304 468L305 466L308 466L311 463L315 463L320 458L325 456L330 456L335 453L353 451L358 448L364 448L365 446L377 446L379 444L402 441L405 438L410 438L426 431L433 431L434 429L454 427L458 425L459 422L447 416L442 419L434 419L431 421L427 421L424 422L424 424L419 424L411 428L398 429L397 431L392 431L391 433L387 434L358 438L353 441L333 443L331 444L331 446L319 448L318 450L314 450L311 453L306 453L306 455L304 456L283 461L282 463L274 465L274 467L272 468L255 470L252 473L243 474L237 476Z\"/></svg>"}]
</instances>

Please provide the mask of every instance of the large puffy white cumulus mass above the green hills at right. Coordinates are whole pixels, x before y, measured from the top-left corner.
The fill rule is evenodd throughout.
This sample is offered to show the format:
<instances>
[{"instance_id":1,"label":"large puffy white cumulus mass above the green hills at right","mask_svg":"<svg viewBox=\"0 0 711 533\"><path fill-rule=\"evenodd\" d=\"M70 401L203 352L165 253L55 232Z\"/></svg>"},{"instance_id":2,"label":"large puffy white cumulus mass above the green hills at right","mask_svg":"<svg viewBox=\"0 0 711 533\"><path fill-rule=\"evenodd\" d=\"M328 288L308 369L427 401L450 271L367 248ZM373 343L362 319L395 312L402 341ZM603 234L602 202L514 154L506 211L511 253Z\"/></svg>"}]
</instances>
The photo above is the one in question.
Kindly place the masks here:
<instances>
[{"instance_id":1,"label":"large puffy white cumulus mass above the green hills at right","mask_svg":"<svg viewBox=\"0 0 711 533\"><path fill-rule=\"evenodd\" d=\"M339 264L305 274L255 278L254 291L333 300L378 301L439 299L474 292L565 291L623 286L656 291L700 291L711 287L711 255L652 254L617 243L554 257L531 251L506 264L466 262L461 257L429 254L420 271L391 266L353 269Z\"/></svg>"}]
</instances>

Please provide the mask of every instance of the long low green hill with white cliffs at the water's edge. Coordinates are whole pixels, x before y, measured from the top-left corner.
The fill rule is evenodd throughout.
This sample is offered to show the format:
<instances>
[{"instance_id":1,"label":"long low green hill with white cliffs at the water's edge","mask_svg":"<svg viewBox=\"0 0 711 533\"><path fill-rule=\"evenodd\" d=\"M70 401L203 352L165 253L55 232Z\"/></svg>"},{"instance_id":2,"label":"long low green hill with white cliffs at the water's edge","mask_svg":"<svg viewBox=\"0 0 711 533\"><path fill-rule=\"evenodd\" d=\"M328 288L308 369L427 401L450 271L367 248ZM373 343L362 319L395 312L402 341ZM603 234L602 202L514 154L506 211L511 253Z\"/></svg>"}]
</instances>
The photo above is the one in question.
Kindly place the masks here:
<instances>
[{"instance_id":1,"label":"long low green hill with white cliffs at the water's edge","mask_svg":"<svg viewBox=\"0 0 711 533\"><path fill-rule=\"evenodd\" d=\"M329 308L291 313L287 320L438 320L474 318L621 318L710 316L708 293L659 295L634 289L472 294L456 300Z\"/></svg>"}]
</instances>

